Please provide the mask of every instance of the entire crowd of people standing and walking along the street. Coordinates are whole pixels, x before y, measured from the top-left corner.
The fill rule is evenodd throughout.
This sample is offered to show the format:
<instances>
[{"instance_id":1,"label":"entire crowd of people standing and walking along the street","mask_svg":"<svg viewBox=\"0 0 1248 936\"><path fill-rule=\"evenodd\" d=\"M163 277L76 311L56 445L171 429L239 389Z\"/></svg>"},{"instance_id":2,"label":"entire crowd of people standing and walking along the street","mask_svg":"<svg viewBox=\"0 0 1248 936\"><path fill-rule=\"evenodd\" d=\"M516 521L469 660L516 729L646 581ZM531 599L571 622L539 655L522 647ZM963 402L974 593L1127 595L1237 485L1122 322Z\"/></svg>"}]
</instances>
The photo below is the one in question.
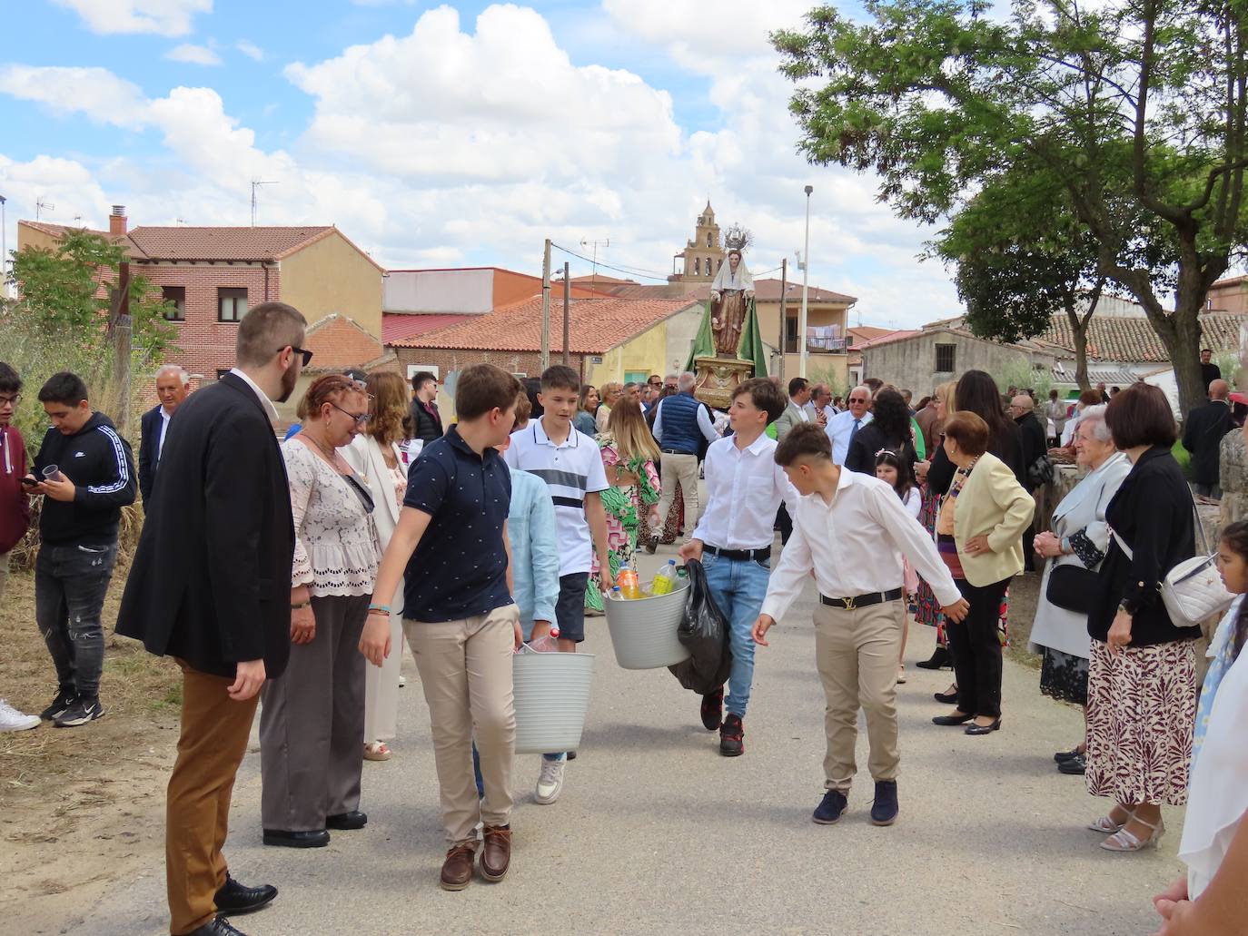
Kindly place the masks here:
<instances>
[{"instance_id":1,"label":"entire crowd of people standing and walking along the street","mask_svg":"<svg viewBox=\"0 0 1248 936\"><path fill-rule=\"evenodd\" d=\"M1202 688L1199 628L1173 620L1159 595L1196 553L1197 524L1157 388L1086 391L1073 408L1055 392L1041 406L968 371L915 406L910 391L866 381L842 409L824 384L794 378L785 393L751 378L718 412L691 373L592 387L557 364L525 386L477 364L459 373L444 422L432 373L411 386L388 372L327 373L307 384L278 443L275 402L311 362L305 337L298 311L268 302L241 322L237 366L215 384L190 393L185 372L162 368L137 470L71 373L39 391L51 428L27 466L11 426L21 381L0 364L0 588L41 497L36 624L57 680L41 716L0 703L0 720L77 728L105 714L102 603L121 509L141 497L116 630L182 669L166 805L171 934L238 934L227 915L277 896L236 881L222 854L257 704L263 842L323 847L367 826L363 760L403 754L389 743L404 645L429 710L448 841L439 884L503 880L512 654L539 641L577 653L587 615L603 612L638 550L676 542L728 624L731 669L698 700L728 758L746 750L755 653L814 580L826 751L812 820L822 825L850 807L860 710L870 820L900 815L896 695L911 617L937 633L920 665L953 673L932 723L972 738L1003 729L1010 587L1042 565L1031 628L1040 688L1082 706L1086 723L1055 761L1111 801L1088 827L1104 850L1141 851L1164 832L1161 807L1187 804L1189 874L1156 899L1164 931L1242 925L1248 603L1218 626ZM1212 379L1208 407L1226 392ZM1224 434L1221 419L1189 418L1184 442ZM1037 510L1063 451L1082 478ZM1248 592L1248 523L1223 532L1218 565L1228 590ZM540 755L537 804L558 801L574 755Z\"/></svg>"}]
</instances>

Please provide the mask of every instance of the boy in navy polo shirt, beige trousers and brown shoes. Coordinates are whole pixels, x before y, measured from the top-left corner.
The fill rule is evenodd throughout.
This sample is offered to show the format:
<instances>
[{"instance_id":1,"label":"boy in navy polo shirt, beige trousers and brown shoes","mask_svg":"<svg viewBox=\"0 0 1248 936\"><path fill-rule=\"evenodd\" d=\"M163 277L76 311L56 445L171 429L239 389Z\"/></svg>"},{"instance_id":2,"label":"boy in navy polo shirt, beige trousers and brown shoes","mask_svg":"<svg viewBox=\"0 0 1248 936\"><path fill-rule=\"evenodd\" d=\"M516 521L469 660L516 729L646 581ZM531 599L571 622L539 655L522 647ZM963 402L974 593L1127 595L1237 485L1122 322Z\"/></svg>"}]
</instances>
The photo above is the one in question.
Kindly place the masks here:
<instances>
[{"instance_id":1,"label":"boy in navy polo shirt, beige trousers and brown shoes","mask_svg":"<svg viewBox=\"0 0 1248 936\"><path fill-rule=\"evenodd\" d=\"M510 472L494 446L512 431L519 392L519 381L493 364L474 364L459 376L459 422L412 463L373 593L393 595L406 573L403 630L429 705L451 841L441 884L451 891L472 881L478 821L482 876L500 881L512 855L512 654L520 645L520 620L508 575ZM389 612L371 604L359 640L361 653L377 666L397 649L389 644ZM473 779L474 731L482 800Z\"/></svg>"}]
</instances>

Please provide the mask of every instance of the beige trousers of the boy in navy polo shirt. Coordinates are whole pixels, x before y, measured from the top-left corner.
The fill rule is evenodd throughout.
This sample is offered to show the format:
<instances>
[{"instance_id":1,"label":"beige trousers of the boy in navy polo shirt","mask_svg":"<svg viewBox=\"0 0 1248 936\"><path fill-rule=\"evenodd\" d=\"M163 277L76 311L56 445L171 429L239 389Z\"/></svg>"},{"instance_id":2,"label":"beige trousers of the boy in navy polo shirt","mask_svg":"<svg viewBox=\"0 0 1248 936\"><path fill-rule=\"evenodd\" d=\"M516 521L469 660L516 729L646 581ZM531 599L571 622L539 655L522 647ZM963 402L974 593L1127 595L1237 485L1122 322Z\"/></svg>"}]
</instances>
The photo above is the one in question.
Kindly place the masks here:
<instances>
[{"instance_id":1,"label":"beige trousers of the boy in navy polo shirt","mask_svg":"<svg viewBox=\"0 0 1248 936\"><path fill-rule=\"evenodd\" d=\"M507 825L512 816L515 705L512 654L519 608L428 624L404 620L407 643L429 705L433 755L447 840L477 840L477 822ZM477 797L472 743L477 738L485 796Z\"/></svg>"}]
</instances>

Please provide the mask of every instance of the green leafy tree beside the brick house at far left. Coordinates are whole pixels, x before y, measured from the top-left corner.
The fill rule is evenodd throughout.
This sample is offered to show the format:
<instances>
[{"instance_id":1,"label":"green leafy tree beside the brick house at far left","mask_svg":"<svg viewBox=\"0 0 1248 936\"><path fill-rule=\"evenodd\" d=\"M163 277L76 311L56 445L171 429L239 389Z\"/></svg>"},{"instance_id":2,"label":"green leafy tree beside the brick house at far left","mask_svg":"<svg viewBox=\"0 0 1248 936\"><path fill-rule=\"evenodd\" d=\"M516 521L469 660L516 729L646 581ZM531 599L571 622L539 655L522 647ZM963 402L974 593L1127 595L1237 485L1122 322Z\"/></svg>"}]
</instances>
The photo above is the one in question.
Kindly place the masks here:
<instances>
[{"instance_id":1,"label":"green leafy tree beside the brick house at far left","mask_svg":"<svg viewBox=\"0 0 1248 936\"><path fill-rule=\"evenodd\" d=\"M126 250L89 231L67 231L55 250L31 247L12 255L12 276L21 285L16 312L29 316L50 336L102 351L114 310ZM165 321L172 308L144 276L130 277L130 316L134 347L147 357L161 357L173 332Z\"/></svg>"}]
</instances>

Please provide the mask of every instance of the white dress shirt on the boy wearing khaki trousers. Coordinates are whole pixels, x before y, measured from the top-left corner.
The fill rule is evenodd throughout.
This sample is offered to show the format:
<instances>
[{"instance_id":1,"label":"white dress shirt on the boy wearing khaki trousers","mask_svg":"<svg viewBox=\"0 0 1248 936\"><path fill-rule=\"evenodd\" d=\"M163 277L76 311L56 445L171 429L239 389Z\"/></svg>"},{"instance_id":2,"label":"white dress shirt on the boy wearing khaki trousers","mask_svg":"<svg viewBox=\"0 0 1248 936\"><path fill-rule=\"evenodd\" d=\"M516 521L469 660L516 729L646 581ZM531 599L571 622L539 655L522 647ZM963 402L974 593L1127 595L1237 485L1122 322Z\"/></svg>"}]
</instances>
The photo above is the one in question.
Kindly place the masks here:
<instances>
[{"instance_id":1,"label":"white dress shirt on the boy wearing khaki trousers","mask_svg":"<svg viewBox=\"0 0 1248 936\"><path fill-rule=\"evenodd\" d=\"M879 478L842 469L831 503L809 494L799 498L791 515L792 535L763 600L763 614L775 620L789 610L811 570L820 594L829 598L901 588L902 555L942 605L961 598L936 543Z\"/></svg>"}]
</instances>

